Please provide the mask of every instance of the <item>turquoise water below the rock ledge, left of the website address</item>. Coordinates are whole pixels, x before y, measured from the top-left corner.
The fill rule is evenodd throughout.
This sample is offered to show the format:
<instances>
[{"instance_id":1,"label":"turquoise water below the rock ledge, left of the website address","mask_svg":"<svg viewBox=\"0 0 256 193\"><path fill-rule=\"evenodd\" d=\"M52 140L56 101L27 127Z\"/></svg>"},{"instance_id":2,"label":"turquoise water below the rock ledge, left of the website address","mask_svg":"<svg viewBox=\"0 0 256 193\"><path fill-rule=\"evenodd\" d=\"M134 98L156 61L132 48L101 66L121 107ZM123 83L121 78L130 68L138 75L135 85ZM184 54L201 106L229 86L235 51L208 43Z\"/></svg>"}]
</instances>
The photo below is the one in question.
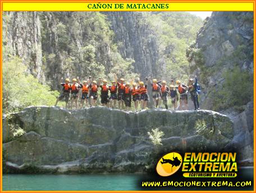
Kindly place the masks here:
<instances>
[{"instance_id":1,"label":"turquoise water below the rock ledge, left of the website address","mask_svg":"<svg viewBox=\"0 0 256 193\"><path fill-rule=\"evenodd\" d=\"M4 174L3 190L138 190L140 175Z\"/></svg>"}]
</instances>

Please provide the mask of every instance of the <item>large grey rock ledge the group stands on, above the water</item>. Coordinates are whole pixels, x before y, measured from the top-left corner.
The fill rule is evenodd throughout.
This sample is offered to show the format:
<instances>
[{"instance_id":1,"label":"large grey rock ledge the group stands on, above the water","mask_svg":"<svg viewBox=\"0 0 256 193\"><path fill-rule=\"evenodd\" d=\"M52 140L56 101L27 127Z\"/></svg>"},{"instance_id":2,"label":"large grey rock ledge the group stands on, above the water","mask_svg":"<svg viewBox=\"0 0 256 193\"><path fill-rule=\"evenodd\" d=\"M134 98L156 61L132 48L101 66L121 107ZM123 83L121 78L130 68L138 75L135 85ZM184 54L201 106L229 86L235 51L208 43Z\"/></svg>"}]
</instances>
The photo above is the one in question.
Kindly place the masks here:
<instances>
[{"instance_id":1,"label":"large grey rock ledge the group stands on, above the water","mask_svg":"<svg viewBox=\"0 0 256 193\"><path fill-rule=\"evenodd\" d=\"M154 128L164 132L163 145L150 141ZM9 173L142 172L156 163L153 154L225 150L233 137L230 118L213 111L28 107L3 118L3 168Z\"/></svg>"}]
</instances>

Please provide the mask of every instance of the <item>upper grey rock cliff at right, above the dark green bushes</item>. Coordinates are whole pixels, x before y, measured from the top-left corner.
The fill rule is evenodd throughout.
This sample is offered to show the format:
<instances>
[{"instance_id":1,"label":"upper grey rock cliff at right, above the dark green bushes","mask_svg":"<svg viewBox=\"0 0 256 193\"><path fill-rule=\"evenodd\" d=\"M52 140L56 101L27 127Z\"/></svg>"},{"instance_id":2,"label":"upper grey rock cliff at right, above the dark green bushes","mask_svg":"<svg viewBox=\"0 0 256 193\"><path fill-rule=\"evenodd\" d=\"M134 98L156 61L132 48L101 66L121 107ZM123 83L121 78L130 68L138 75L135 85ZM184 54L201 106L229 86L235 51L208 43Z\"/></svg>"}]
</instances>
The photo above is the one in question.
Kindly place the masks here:
<instances>
[{"instance_id":1,"label":"upper grey rock cliff at right, above the dark green bushes","mask_svg":"<svg viewBox=\"0 0 256 193\"><path fill-rule=\"evenodd\" d=\"M187 50L192 73L203 85L202 107L212 109L211 90L219 90L222 72L236 66L253 76L253 12L213 12Z\"/></svg>"}]
</instances>

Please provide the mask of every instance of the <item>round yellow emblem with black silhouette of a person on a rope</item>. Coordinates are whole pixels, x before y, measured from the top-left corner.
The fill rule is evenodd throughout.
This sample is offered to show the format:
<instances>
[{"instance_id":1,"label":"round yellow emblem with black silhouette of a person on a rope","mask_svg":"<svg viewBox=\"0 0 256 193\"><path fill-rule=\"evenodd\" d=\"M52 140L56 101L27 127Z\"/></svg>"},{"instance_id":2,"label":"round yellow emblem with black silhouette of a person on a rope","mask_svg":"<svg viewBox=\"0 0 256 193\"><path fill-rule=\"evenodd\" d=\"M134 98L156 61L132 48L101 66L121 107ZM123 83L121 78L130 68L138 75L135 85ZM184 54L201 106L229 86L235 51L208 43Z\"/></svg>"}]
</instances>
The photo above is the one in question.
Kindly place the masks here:
<instances>
[{"instance_id":1,"label":"round yellow emblem with black silhouette of a person on a rope","mask_svg":"<svg viewBox=\"0 0 256 193\"><path fill-rule=\"evenodd\" d=\"M156 170L160 176L171 176L179 170L181 164L181 155L179 153L172 152L159 159Z\"/></svg>"}]
</instances>

